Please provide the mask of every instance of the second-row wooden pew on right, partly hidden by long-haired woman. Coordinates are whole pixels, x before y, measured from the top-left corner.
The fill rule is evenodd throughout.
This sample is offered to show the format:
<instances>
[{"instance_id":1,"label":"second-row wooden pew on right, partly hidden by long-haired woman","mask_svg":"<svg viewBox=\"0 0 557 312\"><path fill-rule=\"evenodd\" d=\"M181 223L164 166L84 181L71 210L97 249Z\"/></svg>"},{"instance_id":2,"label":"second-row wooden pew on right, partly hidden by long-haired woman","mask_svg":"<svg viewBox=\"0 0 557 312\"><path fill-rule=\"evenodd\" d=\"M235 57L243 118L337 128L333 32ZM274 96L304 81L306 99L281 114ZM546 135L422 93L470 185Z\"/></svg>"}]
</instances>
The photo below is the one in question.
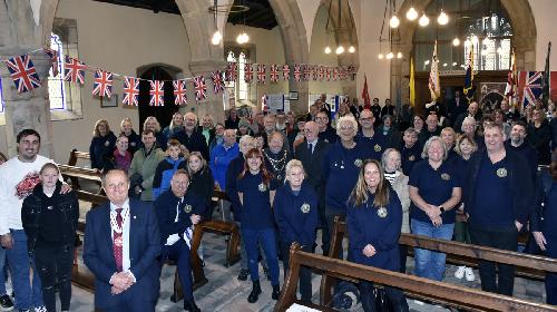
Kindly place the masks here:
<instances>
[{"instance_id":1,"label":"second-row wooden pew on right, partly hidden by long-haired woman","mask_svg":"<svg viewBox=\"0 0 557 312\"><path fill-rule=\"evenodd\" d=\"M339 254L339 251L342 247L342 240L345 234L346 223L344 221L339 221L339 217L336 217L334 221L334 231L329 256L332 257L332 255ZM409 247L420 247L447 253L448 261L450 259L465 257L470 261L469 263L476 266L478 260L512 264L517 266L517 275L522 276L534 275L538 279L544 279L545 272L557 273L557 260L550 257L465 244L453 241L436 240L407 233L401 234L399 243ZM332 287L335 283L335 277L336 276L334 276L334 274L323 274L323 279L321 280L320 298L322 304L331 301Z\"/></svg>"}]
</instances>

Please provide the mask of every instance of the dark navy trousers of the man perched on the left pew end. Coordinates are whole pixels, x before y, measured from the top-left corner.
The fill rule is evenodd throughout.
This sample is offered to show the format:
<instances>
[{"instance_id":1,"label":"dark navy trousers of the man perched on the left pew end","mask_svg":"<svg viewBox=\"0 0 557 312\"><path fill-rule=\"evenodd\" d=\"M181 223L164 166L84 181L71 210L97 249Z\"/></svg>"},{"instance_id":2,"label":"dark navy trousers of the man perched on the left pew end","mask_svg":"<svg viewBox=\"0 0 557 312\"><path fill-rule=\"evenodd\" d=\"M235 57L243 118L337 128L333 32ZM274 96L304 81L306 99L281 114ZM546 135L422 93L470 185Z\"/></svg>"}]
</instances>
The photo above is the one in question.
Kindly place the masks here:
<instances>
[{"instance_id":1,"label":"dark navy trousers of the man perched on the left pew end","mask_svg":"<svg viewBox=\"0 0 557 312\"><path fill-rule=\"evenodd\" d=\"M184 300L194 299L193 277L192 277L192 256L189 247L184 240L179 240L170 246L163 246L162 263L166 260L176 261L178 267L178 277L184 290Z\"/></svg>"}]
</instances>

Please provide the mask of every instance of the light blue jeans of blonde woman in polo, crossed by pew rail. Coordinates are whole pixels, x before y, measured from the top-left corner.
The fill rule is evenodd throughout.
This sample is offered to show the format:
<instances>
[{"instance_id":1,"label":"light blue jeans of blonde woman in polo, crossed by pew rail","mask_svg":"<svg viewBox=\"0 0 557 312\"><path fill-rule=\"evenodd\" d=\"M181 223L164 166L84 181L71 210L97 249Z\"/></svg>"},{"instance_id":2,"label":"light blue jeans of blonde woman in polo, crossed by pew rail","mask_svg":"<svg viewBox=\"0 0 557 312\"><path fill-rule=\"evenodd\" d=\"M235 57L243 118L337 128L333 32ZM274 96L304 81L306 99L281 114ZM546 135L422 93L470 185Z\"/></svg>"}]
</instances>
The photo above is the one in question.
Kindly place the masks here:
<instances>
[{"instance_id":1,"label":"light blue jeans of blonde woman in polo, crossed by pew rail","mask_svg":"<svg viewBox=\"0 0 557 312\"><path fill-rule=\"evenodd\" d=\"M455 223L442 224L438 227L431 222L426 223L412 218L411 227L412 234L450 241L452 238ZM446 259L447 255L444 253L414 248L414 274L420 277L441 281L443 279Z\"/></svg>"}]
</instances>

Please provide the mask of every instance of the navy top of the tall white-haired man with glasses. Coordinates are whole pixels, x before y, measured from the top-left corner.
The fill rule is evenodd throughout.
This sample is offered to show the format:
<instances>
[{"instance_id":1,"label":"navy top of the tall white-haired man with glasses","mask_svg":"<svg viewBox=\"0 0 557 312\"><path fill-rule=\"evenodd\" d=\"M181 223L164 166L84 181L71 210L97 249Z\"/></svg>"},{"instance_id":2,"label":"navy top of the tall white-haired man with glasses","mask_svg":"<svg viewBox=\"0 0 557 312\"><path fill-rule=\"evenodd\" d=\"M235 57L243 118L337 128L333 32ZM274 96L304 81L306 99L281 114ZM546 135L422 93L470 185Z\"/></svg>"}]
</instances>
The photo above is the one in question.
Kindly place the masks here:
<instances>
[{"instance_id":1,"label":"navy top of the tall white-haired man with glasses","mask_svg":"<svg viewBox=\"0 0 557 312\"><path fill-rule=\"evenodd\" d=\"M344 148L340 142L332 145L321 163L321 173L325 184L325 205L345 213L346 201L358 181L360 167L370 157L367 147L360 143Z\"/></svg>"}]
</instances>

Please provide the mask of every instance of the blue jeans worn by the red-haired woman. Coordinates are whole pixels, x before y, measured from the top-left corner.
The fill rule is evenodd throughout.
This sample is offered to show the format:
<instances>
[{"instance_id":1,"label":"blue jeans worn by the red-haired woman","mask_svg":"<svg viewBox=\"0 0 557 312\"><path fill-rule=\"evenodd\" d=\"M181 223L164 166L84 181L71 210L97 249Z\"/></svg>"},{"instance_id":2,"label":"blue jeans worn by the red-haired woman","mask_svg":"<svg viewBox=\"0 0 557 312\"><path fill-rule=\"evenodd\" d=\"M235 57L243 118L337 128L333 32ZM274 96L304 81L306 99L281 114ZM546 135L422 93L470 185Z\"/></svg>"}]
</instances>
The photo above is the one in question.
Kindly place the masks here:
<instances>
[{"instance_id":1,"label":"blue jeans worn by the red-haired woman","mask_svg":"<svg viewBox=\"0 0 557 312\"><path fill-rule=\"evenodd\" d=\"M276 255L275 231L273 228L251 230L242 228L245 251L247 253L247 267L252 281L260 280L260 251L257 245L263 246L271 275L271 284L278 285L278 256Z\"/></svg>"}]
</instances>

